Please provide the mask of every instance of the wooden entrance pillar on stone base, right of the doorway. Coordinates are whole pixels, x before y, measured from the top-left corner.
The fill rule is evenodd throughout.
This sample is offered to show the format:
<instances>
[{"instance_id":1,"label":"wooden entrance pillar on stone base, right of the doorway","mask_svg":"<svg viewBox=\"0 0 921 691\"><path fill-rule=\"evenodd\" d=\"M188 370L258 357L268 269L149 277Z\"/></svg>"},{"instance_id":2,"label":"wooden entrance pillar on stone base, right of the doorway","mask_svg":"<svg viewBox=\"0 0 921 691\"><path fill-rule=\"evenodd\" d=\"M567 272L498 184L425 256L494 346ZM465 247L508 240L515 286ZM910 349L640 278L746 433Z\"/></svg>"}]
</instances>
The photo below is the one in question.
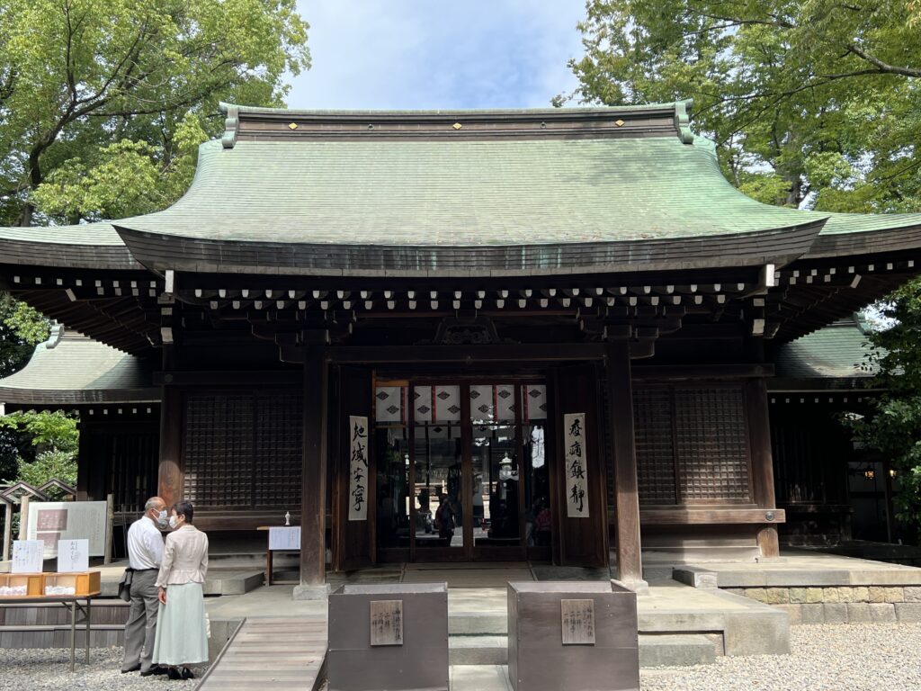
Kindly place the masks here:
<instances>
[{"instance_id":1,"label":"wooden entrance pillar on stone base, right of the doorway","mask_svg":"<svg viewBox=\"0 0 921 691\"><path fill-rule=\"evenodd\" d=\"M636 483L633 383L630 379L630 344L614 342L606 347L608 414L613 440L614 515L617 519L618 578L643 580L640 556L639 493Z\"/></svg>"}]
</instances>

